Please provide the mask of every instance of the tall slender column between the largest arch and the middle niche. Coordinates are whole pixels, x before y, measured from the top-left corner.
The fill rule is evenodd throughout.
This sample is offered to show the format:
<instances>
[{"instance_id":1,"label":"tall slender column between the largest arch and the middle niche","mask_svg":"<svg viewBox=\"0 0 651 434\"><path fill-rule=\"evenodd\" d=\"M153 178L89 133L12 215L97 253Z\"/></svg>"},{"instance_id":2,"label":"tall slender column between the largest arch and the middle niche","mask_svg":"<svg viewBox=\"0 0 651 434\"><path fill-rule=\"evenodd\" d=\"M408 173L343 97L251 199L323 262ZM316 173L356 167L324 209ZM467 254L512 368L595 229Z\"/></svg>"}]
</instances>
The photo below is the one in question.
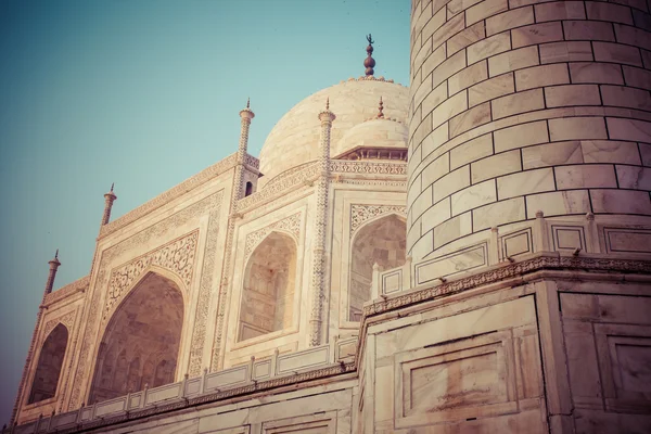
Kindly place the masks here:
<instances>
[{"instance_id":1,"label":"tall slender column between the largest arch and the middle niche","mask_svg":"<svg viewBox=\"0 0 651 434\"><path fill-rule=\"evenodd\" d=\"M235 208L238 205L238 201L244 195L244 165L248 148L248 129L251 127L251 119L253 119L254 117L255 114L251 110L251 100L247 100L246 108L240 111L240 143L238 145L235 173L233 176L233 184L231 192L230 215L228 218L228 228L226 233L226 252L224 255L224 267L221 268L221 282L219 283L219 298L217 303L217 327L215 329L215 339L213 340L213 355L210 357L210 369L213 371L219 369L219 348L221 346L221 333L224 331L224 319L226 315L226 303L224 301L226 299L226 294L228 293L228 277L231 273L231 253L233 247L235 219L238 218ZM196 374L196 372L191 372L191 374Z\"/></svg>"}]
</instances>

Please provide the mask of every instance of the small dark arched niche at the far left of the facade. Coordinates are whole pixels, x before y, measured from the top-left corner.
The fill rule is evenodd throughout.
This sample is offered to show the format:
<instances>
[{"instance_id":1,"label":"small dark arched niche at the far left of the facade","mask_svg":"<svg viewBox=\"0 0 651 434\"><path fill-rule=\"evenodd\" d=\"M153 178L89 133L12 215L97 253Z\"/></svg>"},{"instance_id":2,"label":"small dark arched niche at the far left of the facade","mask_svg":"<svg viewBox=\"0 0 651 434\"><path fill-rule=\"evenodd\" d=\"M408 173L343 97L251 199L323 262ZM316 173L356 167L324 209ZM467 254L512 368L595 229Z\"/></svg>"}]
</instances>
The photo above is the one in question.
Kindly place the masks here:
<instances>
[{"instance_id":1,"label":"small dark arched niche at the far left of the facade","mask_svg":"<svg viewBox=\"0 0 651 434\"><path fill-rule=\"evenodd\" d=\"M56 395L67 341L68 331L62 323L59 323L46 339L38 357L28 404L50 399Z\"/></svg>"}]
</instances>

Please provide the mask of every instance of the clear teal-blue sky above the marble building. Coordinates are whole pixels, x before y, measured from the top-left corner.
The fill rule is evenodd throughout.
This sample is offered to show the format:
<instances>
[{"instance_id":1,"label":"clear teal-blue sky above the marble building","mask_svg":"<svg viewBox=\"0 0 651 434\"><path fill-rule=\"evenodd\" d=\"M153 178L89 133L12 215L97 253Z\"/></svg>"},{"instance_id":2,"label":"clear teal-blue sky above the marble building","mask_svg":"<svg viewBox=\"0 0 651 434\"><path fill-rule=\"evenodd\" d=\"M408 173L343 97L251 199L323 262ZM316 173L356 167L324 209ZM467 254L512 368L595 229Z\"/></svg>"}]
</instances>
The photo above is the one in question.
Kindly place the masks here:
<instances>
[{"instance_id":1,"label":"clear teal-blue sky above the marble building","mask_svg":"<svg viewBox=\"0 0 651 434\"><path fill-rule=\"evenodd\" d=\"M88 275L115 182L117 218L294 104L363 75L408 85L409 0L0 1L0 425L9 421L48 260ZM335 102L333 102L333 110Z\"/></svg>"}]
</instances>

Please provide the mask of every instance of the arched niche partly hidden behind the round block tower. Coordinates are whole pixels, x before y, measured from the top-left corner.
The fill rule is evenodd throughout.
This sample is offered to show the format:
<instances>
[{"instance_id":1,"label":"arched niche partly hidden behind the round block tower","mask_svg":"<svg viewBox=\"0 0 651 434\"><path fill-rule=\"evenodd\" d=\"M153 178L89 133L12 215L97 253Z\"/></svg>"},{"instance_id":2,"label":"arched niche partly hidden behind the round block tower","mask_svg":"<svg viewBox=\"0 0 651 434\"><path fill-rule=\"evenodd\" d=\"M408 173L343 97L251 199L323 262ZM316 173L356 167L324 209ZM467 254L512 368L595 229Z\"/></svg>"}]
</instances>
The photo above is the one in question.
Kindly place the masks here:
<instances>
[{"instance_id":1,"label":"arched niche partly hidden behind the round block tower","mask_svg":"<svg viewBox=\"0 0 651 434\"><path fill-rule=\"evenodd\" d=\"M350 247L350 283L348 285L348 320L359 321L361 308L371 299L373 264L382 269L405 265L407 226L390 214L361 227Z\"/></svg>"}]
</instances>

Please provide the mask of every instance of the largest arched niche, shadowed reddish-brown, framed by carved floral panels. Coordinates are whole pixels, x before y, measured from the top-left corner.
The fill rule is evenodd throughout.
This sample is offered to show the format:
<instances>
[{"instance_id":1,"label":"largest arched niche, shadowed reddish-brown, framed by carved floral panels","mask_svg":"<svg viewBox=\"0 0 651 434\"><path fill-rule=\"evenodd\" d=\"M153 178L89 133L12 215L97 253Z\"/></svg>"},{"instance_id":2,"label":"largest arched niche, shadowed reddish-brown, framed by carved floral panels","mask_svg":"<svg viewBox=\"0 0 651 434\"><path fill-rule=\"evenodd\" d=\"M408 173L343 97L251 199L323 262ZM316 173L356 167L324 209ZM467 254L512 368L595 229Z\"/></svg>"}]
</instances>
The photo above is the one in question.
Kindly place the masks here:
<instances>
[{"instance_id":1,"label":"largest arched niche, shadowed reddish-brown, framed by carved floral panels","mask_svg":"<svg viewBox=\"0 0 651 434\"><path fill-rule=\"evenodd\" d=\"M183 328L183 297L149 272L113 314L100 344L89 403L173 383Z\"/></svg>"}]
</instances>

